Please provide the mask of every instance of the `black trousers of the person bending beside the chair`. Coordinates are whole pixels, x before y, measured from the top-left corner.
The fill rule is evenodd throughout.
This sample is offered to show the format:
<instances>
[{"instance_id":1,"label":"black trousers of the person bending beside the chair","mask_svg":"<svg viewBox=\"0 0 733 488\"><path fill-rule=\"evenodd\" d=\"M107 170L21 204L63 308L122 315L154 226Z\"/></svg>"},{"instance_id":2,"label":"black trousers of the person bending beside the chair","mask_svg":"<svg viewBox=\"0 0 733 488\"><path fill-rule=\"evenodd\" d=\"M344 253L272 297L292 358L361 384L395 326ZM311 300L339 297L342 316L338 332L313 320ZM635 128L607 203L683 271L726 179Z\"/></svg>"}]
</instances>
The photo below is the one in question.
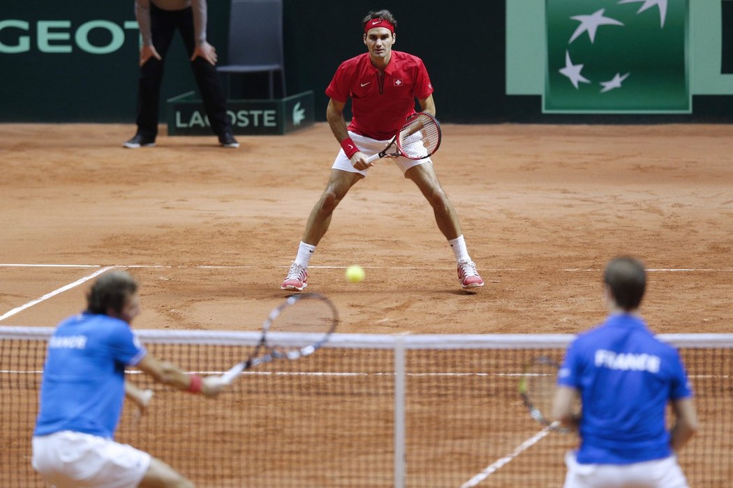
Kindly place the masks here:
<instances>
[{"instance_id":1,"label":"black trousers of the person bending beside the chair","mask_svg":"<svg viewBox=\"0 0 733 488\"><path fill-rule=\"evenodd\" d=\"M152 45L161 55L161 60L150 58L140 67L138 83L138 133L155 138L158 135L158 105L163 82L163 65L171 46L173 35L178 29L183 36L188 58L194 55L196 40L194 34L194 12L191 7L184 10L161 10L150 3L150 30ZM191 62L196 85L199 86L204 110L211 129L216 135L232 132L232 122L226 115L226 99L216 67L198 57Z\"/></svg>"}]
</instances>

